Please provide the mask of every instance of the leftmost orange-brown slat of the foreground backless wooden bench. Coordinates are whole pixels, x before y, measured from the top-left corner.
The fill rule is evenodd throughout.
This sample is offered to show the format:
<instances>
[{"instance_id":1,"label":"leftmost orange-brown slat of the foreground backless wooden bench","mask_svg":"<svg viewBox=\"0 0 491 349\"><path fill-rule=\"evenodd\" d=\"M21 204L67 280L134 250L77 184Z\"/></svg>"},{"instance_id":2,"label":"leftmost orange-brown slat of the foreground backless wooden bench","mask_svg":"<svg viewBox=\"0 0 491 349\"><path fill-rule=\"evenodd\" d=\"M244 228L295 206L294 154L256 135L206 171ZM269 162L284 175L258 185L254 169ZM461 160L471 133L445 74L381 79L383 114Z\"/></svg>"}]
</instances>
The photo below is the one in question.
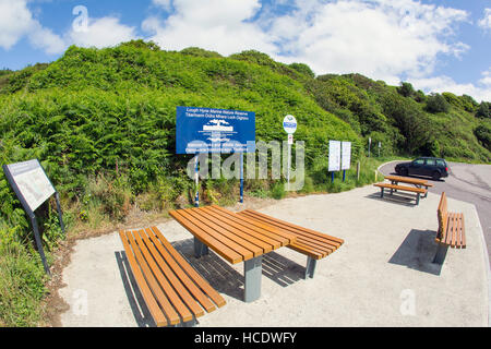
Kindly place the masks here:
<instances>
[{"instance_id":1,"label":"leftmost orange-brown slat of the foreground backless wooden bench","mask_svg":"<svg viewBox=\"0 0 491 349\"><path fill-rule=\"evenodd\" d=\"M145 300L145 304L148 308L148 311L152 314L152 317L155 321L155 324L157 326L167 326L168 322L164 313L161 312L160 308L157 304L157 301L155 300L154 296L152 294L152 291L148 287L148 284L146 282L142 270L140 269L140 266L136 263L136 260L133 255L133 250L130 248L130 244L128 242L127 233L124 233L122 230L119 231L119 237L121 238L121 242L123 244L124 251L127 252L127 258L130 263L131 272L139 285L140 291L143 296L143 299Z\"/></svg>"}]
</instances>

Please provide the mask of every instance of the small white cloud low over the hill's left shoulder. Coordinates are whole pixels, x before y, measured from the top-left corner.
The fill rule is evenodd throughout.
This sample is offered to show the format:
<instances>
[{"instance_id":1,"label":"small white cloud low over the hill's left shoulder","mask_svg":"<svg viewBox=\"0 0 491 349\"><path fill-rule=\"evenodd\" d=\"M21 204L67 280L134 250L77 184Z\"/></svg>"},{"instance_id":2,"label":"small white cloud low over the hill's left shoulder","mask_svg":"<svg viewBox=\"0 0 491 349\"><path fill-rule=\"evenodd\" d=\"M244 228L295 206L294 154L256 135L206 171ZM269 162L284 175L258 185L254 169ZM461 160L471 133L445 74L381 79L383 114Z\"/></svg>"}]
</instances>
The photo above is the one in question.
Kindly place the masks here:
<instances>
[{"instance_id":1,"label":"small white cloud low over the hill's left shoulder","mask_svg":"<svg viewBox=\"0 0 491 349\"><path fill-rule=\"evenodd\" d=\"M72 27L65 35L65 41L81 47L108 47L123 41L136 39L135 27L119 22L119 19L106 16L87 19L87 26L83 29Z\"/></svg>"}]
</instances>

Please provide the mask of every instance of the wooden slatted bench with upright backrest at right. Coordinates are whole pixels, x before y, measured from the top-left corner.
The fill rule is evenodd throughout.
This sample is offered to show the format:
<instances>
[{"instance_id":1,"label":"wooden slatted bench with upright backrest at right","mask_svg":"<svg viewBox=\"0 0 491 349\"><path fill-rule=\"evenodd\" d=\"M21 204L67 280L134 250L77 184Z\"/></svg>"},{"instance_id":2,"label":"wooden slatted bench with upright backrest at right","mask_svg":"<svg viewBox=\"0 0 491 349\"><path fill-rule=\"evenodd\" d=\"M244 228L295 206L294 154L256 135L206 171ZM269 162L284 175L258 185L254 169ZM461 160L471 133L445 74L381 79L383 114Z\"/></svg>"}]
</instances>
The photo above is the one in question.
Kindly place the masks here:
<instances>
[{"instance_id":1,"label":"wooden slatted bench with upright backrest at right","mask_svg":"<svg viewBox=\"0 0 491 349\"><path fill-rule=\"evenodd\" d=\"M447 210L445 192L440 197L436 215L439 219L439 231L436 232L435 242L439 244L439 249L436 250L433 263L442 264L448 246L452 249L466 248L466 229L464 215Z\"/></svg>"}]
</instances>

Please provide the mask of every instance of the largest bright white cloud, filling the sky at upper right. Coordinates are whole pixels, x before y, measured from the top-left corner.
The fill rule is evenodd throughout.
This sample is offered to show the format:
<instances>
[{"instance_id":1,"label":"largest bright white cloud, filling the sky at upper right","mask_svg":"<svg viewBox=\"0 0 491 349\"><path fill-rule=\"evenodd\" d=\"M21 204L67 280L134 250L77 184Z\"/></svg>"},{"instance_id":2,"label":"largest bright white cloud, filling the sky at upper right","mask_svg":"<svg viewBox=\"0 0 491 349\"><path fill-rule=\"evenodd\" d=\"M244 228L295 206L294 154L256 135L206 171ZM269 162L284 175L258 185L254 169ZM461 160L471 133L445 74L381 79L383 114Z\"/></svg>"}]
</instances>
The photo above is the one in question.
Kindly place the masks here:
<instances>
[{"instance_id":1,"label":"largest bright white cloud, filling the sky at upper right","mask_svg":"<svg viewBox=\"0 0 491 349\"><path fill-rule=\"evenodd\" d=\"M394 83L402 74L428 75L440 55L459 57L468 49L451 40L465 11L411 0L313 1L309 11L298 4L273 22L271 33L289 61L306 62L318 74L359 72Z\"/></svg>"}]
</instances>

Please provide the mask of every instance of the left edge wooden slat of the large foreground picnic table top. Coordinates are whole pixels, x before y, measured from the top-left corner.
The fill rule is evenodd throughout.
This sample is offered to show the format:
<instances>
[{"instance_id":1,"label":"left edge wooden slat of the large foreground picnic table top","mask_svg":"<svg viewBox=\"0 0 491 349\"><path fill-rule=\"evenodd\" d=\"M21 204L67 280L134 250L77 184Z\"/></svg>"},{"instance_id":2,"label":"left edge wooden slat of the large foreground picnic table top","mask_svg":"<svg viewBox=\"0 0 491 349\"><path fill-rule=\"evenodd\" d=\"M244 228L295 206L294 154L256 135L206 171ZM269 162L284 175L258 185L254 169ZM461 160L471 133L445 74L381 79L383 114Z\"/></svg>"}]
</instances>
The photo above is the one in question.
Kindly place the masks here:
<instances>
[{"instance_id":1,"label":"left edge wooden slat of the large foreground picnic table top","mask_svg":"<svg viewBox=\"0 0 491 349\"><path fill-rule=\"evenodd\" d=\"M219 240L215 239L213 236L207 233L205 230L201 229L193 222L191 222L181 210L170 210L169 215L172 216L179 224L181 224L185 229L191 231L191 233L197 237L204 244L209 246L213 251L219 254L221 257L227 260L231 264L237 264L243 261L243 255L230 249L228 245L221 243ZM251 253L252 254L252 253Z\"/></svg>"}]
</instances>

